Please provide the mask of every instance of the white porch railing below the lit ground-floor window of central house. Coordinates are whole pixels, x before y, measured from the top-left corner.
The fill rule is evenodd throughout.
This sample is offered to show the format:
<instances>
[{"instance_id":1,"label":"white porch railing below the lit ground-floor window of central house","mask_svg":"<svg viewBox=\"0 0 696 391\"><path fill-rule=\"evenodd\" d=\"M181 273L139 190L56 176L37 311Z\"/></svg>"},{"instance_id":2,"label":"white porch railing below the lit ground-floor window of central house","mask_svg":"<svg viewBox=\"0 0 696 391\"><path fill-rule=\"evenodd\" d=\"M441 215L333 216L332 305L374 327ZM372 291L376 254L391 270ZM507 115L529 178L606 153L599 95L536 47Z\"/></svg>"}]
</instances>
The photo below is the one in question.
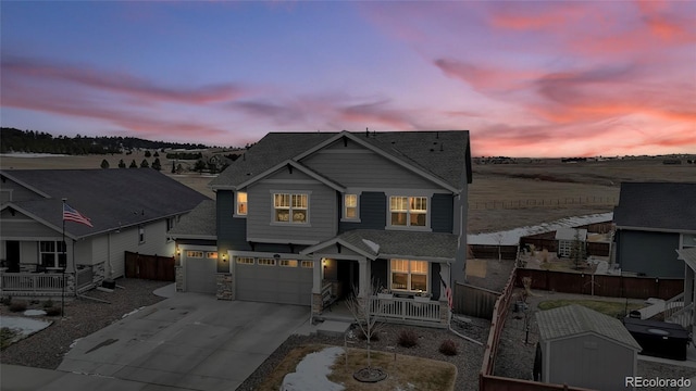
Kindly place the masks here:
<instances>
[{"instance_id":1,"label":"white porch railing below the lit ground-floor window of central house","mask_svg":"<svg viewBox=\"0 0 696 391\"><path fill-rule=\"evenodd\" d=\"M437 301L417 302L413 299L370 298L370 311L372 315L385 320L414 320L427 323L440 323L440 304Z\"/></svg>"}]
</instances>

